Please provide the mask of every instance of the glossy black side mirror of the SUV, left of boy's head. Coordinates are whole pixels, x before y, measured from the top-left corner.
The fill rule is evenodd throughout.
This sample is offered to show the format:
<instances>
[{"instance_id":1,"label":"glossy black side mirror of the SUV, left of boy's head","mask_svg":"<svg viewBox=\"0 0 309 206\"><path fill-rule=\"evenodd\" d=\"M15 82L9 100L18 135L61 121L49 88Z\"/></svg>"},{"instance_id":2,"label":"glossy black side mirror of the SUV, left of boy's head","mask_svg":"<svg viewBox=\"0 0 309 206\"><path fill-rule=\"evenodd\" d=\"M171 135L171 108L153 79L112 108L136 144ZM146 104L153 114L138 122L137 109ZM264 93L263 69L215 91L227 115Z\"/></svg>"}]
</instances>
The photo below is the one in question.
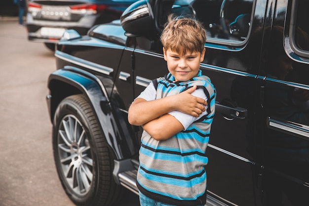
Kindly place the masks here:
<instances>
[{"instance_id":1,"label":"glossy black side mirror of the SUV, left of boy's head","mask_svg":"<svg viewBox=\"0 0 309 206\"><path fill-rule=\"evenodd\" d=\"M120 17L126 36L142 36L152 31L153 14L148 0L131 4Z\"/></svg>"}]
</instances>

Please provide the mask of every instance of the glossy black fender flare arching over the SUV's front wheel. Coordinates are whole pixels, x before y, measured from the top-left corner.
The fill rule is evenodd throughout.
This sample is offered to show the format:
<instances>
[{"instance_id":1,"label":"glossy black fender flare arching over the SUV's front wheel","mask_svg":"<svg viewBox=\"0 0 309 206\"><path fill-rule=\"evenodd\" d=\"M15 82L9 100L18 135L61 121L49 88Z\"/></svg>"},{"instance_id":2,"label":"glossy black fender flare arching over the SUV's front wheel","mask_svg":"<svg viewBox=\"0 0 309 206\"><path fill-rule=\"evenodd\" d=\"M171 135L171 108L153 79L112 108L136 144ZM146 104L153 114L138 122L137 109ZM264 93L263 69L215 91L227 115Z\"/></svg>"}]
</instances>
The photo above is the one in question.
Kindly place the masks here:
<instances>
[{"instance_id":1,"label":"glossy black fender flare arching over the SUV's front wheel","mask_svg":"<svg viewBox=\"0 0 309 206\"><path fill-rule=\"evenodd\" d=\"M63 86L68 89L62 88ZM78 93L84 94L116 159L130 158L137 153L137 146L132 141L134 137L126 131L124 134L112 110L108 92L95 75L76 67L65 66L49 75L48 88L50 94L46 99L51 121L57 106L64 98Z\"/></svg>"}]
</instances>

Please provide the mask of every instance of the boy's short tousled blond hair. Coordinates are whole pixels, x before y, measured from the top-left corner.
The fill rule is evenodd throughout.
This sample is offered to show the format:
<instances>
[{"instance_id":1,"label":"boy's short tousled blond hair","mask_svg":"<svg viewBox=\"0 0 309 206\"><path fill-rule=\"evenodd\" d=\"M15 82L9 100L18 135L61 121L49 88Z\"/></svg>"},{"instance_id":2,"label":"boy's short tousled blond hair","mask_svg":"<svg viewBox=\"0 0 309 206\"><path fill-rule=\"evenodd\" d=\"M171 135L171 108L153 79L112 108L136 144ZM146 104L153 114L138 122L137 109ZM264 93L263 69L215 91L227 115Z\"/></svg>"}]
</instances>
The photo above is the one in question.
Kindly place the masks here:
<instances>
[{"instance_id":1,"label":"boy's short tousled blond hair","mask_svg":"<svg viewBox=\"0 0 309 206\"><path fill-rule=\"evenodd\" d=\"M170 15L160 38L165 50L186 54L204 50L206 31L196 20L191 18L176 18Z\"/></svg>"}]
</instances>

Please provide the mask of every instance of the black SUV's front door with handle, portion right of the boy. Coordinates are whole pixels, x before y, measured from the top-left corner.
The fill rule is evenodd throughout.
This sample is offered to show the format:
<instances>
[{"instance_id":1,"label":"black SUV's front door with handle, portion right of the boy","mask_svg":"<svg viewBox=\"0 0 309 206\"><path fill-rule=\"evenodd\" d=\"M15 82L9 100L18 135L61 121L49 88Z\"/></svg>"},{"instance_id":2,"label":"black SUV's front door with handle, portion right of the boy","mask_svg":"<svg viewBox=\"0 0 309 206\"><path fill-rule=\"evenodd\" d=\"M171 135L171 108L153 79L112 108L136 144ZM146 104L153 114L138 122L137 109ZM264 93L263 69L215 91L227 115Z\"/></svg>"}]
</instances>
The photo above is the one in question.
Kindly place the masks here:
<instances>
[{"instance_id":1,"label":"black SUV's front door with handle, portion right of the boy","mask_svg":"<svg viewBox=\"0 0 309 206\"><path fill-rule=\"evenodd\" d=\"M257 8L263 8L265 3L218 0L215 4L209 0L213 6L209 8L206 2L196 3L196 12L202 11L202 6L207 9L207 16L200 17L206 22L208 34L201 68L217 90L216 114L206 150L208 194L227 205L259 205L259 151L255 149L254 124L260 94L259 68L253 67L249 56L252 45L261 43L251 40L250 34L264 21L264 11ZM255 54L257 59L259 50Z\"/></svg>"}]
</instances>

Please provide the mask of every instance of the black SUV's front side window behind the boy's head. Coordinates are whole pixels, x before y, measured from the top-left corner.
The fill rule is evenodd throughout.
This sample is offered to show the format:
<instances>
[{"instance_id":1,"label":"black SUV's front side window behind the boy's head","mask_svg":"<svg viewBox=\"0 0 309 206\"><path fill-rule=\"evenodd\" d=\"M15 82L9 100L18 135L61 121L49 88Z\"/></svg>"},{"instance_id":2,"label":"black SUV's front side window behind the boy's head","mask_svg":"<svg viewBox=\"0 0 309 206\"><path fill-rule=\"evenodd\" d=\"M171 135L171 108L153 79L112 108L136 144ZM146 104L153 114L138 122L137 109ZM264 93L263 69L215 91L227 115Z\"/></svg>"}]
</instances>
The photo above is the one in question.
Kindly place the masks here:
<instances>
[{"instance_id":1,"label":"black SUV's front side window behind the boy's head","mask_svg":"<svg viewBox=\"0 0 309 206\"><path fill-rule=\"evenodd\" d=\"M162 0L158 27L166 16L194 16L203 23L207 38L241 42L250 28L253 0Z\"/></svg>"}]
</instances>

